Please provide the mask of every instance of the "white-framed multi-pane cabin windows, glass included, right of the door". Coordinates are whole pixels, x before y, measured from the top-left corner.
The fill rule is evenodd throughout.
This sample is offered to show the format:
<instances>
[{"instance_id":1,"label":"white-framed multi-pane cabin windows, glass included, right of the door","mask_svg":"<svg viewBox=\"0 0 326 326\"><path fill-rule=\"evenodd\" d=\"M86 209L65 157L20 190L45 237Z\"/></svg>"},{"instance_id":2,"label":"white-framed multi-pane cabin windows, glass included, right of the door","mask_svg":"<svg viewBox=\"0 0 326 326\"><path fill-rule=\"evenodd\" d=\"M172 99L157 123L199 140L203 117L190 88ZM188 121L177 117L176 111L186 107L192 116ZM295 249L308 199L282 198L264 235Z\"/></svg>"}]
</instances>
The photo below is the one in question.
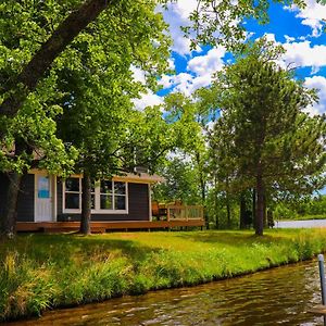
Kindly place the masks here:
<instances>
[{"instance_id":1,"label":"white-framed multi-pane cabin windows, glass included, right of the door","mask_svg":"<svg viewBox=\"0 0 326 326\"><path fill-rule=\"evenodd\" d=\"M82 178L67 178L63 187L63 212L82 212ZM101 180L91 188L91 212L96 214L127 213L127 184Z\"/></svg>"}]
</instances>

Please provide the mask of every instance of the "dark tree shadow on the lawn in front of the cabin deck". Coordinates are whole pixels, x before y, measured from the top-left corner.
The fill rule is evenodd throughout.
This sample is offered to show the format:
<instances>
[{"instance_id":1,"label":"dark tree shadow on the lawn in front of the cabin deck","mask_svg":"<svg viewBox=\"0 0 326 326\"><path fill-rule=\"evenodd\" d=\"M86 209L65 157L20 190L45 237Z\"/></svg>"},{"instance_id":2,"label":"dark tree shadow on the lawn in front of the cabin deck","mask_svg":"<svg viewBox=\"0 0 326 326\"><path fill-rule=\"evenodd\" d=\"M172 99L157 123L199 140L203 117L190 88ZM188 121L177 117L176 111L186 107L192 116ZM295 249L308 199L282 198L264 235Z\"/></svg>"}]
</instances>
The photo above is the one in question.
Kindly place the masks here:
<instances>
[{"instance_id":1,"label":"dark tree shadow on the lawn in front of the cabin deck","mask_svg":"<svg viewBox=\"0 0 326 326\"><path fill-rule=\"evenodd\" d=\"M22 235L14 242L3 244L0 259L9 251L16 251L21 256L28 258L39 264L53 262L65 265L73 261L91 261L93 259L106 260L109 256L126 256L133 261L143 261L159 248L152 248L137 240L109 239L99 236L80 236L76 234Z\"/></svg>"}]
</instances>

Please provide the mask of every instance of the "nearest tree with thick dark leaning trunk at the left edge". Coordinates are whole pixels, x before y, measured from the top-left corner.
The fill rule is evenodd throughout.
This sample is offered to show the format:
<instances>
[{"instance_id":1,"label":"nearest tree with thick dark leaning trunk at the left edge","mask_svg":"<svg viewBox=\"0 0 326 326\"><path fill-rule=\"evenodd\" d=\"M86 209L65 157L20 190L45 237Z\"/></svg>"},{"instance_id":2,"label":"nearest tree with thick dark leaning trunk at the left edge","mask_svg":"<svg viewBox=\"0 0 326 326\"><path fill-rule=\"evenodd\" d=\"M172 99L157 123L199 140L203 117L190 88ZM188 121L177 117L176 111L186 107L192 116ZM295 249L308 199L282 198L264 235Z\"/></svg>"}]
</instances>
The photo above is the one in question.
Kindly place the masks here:
<instances>
[{"instance_id":1,"label":"nearest tree with thick dark leaning trunk at the left edge","mask_svg":"<svg viewBox=\"0 0 326 326\"><path fill-rule=\"evenodd\" d=\"M266 0L259 1L258 4L252 1L241 1L236 5L233 1L222 1L222 3L224 4L217 5L216 1L199 1L197 11L191 16L195 22L193 27L199 32L199 41L210 41L211 37L216 35L214 32L218 27L222 28L222 34L217 39L226 40L230 35L239 38L243 35L241 18L253 15L265 20L265 10L268 7ZM14 193L14 191L15 189L18 191L22 171L26 171L30 166L29 143L34 143L35 139L26 139L24 135L21 137L20 133L12 133L13 126L17 129L22 128L22 125L17 124L16 116L28 98L35 96L37 98L39 87L47 80L52 78L52 86L55 84L55 74L53 75L52 67L55 65L57 59L64 57L64 51L73 43L78 34L100 14L105 13L106 18L112 23L112 37L128 40L130 35L127 32L139 27L139 24L145 23L147 26L147 11L141 12L143 15L136 16L140 13L137 8L145 8L145 5L141 1L130 2L127 0L68 0L64 3L9 0L0 4L0 45L1 57L4 59L0 62L2 85L0 89L0 159L4 163L1 162L0 165L5 165L2 171L12 174L10 179L16 183L8 188L8 198L17 198L17 192ZM213 16L210 13L210 7L213 9ZM213 24L205 24L208 22L205 17ZM222 22L224 20L227 22ZM229 22L233 24L228 24ZM234 24L235 22L236 24ZM205 27L203 28L203 26ZM122 55L122 53L116 53L116 55ZM43 114L47 117L51 116L43 110L39 110L37 113L41 116ZM53 117L53 113L51 117ZM36 114L36 118L39 120L38 114ZM63 149L62 143L55 137L52 137L52 140L57 143L54 148ZM45 141L41 142L45 143ZM15 201L10 202L11 206L8 212L14 212ZM3 218L11 221L9 225L14 225L12 214L5 213ZM12 234L4 229L2 231Z\"/></svg>"}]
</instances>

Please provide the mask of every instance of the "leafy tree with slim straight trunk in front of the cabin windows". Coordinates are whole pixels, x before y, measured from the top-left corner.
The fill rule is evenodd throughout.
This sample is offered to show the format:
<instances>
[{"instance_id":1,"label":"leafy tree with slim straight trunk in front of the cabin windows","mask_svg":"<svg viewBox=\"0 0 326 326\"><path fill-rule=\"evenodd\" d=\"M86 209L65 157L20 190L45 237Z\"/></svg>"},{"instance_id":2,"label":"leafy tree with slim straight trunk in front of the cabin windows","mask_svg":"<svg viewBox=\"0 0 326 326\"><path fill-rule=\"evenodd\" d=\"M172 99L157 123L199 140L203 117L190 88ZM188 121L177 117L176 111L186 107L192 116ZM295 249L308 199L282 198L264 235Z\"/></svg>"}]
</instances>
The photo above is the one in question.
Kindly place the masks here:
<instances>
[{"instance_id":1,"label":"leafy tree with slim straight trunk in front of the cabin windows","mask_svg":"<svg viewBox=\"0 0 326 326\"><path fill-rule=\"evenodd\" d=\"M63 114L58 120L59 138L78 149L75 171L84 175L83 234L90 233L91 187L96 180L133 172L139 162L153 167L159 153L165 151L165 139L158 137L153 127L153 122L164 124L153 116L161 115L159 110L152 110L152 120L147 122L153 127L151 134L143 134L147 126L141 122L145 123L143 115L150 110L141 113L134 109L131 99L139 97L145 86L134 79L131 66L141 66L147 85L153 87L156 76L166 67L168 37L163 34L165 24L161 15L154 13L154 2L133 9L133 17L138 25L135 22L133 27L125 26L129 37L121 39L112 35L112 22L104 13L74 41L70 55L74 63L58 70L59 88L65 92L61 102ZM146 21L139 22L141 17ZM124 22L120 24L123 28ZM153 147L160 148L155 155Z\"/></svg>"}]
</instances>

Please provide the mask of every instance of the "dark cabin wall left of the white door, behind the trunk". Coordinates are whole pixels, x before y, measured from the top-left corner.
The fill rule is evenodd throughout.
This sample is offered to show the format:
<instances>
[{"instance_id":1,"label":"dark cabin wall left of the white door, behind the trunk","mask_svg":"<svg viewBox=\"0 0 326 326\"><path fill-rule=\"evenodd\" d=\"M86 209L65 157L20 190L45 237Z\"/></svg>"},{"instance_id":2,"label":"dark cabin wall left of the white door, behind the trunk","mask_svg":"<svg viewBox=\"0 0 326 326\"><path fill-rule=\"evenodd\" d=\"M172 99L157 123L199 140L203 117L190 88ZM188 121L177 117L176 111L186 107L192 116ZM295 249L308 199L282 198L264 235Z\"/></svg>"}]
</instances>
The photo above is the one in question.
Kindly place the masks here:
<instances>
[{"instance_id":1,"label":"dark cabin wall left of the white door, behind the trunk","mask_svg":"<svg viewBox=\"0 0 326 326\"><path fill-rule=\"evenodd\" d=\"M5 208L5 193L9 179L0 174L0 214ZM18 193L17 222L34 222L34 175L27 174L22 178L21 190Z\"/></svg>"}]
</instances>

